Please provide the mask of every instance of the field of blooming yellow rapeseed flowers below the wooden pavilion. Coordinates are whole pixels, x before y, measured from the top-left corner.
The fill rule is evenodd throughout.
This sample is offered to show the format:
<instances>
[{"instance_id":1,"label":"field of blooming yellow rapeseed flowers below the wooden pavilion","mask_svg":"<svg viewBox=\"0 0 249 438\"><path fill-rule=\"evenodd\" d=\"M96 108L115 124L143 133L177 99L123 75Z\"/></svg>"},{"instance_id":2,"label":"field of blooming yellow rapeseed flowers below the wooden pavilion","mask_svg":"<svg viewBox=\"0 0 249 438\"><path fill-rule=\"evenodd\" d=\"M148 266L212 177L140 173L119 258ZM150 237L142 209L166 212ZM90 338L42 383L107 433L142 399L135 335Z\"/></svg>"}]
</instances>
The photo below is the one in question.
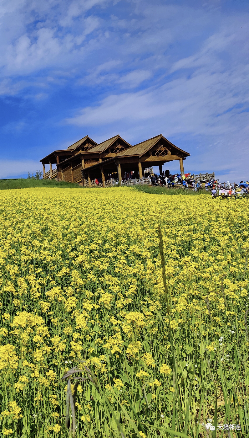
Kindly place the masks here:
<instances>
[{"instance_id":1,"label":"field of blooming yellow rapeseed flowers below the wooden pavilion","mask_svg":"<svg viewBox=\"0 0 249 438\"><path fill-rule=\"evenodd\" d=\"M246 436L248 218L248 199L0 191L0 435L69 436L79 367L76 437Z\"/></svg>"}]
</instances>

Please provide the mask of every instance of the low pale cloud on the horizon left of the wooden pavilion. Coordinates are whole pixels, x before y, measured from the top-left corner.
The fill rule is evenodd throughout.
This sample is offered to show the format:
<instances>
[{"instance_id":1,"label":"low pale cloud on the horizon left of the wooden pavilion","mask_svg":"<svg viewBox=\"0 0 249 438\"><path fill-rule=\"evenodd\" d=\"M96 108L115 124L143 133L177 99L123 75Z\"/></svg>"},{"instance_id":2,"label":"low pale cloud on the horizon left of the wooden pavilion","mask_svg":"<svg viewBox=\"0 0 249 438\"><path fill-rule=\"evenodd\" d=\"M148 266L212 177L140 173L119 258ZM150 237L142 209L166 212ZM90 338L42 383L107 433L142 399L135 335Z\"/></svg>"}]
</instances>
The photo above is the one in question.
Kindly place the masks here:
<instances>
[{"instance_id":1,"label":"low pale cloud on the horizon left of the wooden pavilion","mask_svg":"<svg viewBox=\"0 0 249 438\"><path fill-rule=\"evenodd\" d=\"M1 160L0 161L0 179L27 175L28 172L35 173L36 170L42 170L41 163L34 160Z\"/></svg>"}]
</instances>

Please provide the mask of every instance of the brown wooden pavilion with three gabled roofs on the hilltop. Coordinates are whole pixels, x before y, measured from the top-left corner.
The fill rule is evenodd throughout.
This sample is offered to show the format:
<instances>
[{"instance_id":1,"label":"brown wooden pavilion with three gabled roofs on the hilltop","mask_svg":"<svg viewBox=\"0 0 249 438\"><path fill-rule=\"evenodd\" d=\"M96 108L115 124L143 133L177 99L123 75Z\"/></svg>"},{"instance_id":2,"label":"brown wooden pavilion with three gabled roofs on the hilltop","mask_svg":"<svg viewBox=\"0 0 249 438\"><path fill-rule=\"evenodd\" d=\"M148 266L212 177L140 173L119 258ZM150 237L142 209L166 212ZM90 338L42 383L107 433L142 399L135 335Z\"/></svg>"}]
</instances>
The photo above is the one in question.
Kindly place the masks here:
<instances>
[{"instance_id":1,"label":"brown wooden pavilion with three gabled roofs on the hilltop","mask_svg":"<svg viewBox=\"0 0 249 438\"><path fill-rule=\"evenodd\" d=\"M116 135L97 144L86 136L67 149L56 150L41 159L43 178L54 178L58 181L69 181L91 186L91 181L102 180L103 187L110 175L120 183L125 173L132 172L134 177L142 178L145 169L159 166L159 173L163 173L163 164L179 160L180 172L184 172L183 160L190 156L173 145L162 134L149 140L131 146L127 141ZM52 164L56 169L52 170ZM50 169L45 173L45 164ZM117 176L118 178L115 178Z\"/></svg>"}]
</instances>

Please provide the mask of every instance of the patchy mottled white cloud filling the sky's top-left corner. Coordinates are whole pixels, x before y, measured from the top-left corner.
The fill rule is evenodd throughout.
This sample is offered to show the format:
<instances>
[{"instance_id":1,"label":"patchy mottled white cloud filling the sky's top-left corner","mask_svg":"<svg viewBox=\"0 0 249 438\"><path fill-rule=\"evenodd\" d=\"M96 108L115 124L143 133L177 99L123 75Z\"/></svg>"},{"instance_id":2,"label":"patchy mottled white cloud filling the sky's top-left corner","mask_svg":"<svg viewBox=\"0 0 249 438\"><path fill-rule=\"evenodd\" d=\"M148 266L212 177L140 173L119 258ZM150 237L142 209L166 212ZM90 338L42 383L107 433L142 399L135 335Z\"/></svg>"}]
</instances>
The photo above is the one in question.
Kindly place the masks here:
<instances>
[{"instance_id":1,"label":"patchy mottled white cloud filling the sky's top-left corner","mask_svg":"<svg viewBox=\"0 0 249 438\"><path fill-rule=\"evenodd\" d=\"M27 0L13 1L8 7L9 2L3 2L0 76L13 78L40 69L79 64L86 37L100 28L99 18L86 16L86 12L104 3L106 0L76 0L71 4L66 0Z\"/></svg>"}]
</instances>

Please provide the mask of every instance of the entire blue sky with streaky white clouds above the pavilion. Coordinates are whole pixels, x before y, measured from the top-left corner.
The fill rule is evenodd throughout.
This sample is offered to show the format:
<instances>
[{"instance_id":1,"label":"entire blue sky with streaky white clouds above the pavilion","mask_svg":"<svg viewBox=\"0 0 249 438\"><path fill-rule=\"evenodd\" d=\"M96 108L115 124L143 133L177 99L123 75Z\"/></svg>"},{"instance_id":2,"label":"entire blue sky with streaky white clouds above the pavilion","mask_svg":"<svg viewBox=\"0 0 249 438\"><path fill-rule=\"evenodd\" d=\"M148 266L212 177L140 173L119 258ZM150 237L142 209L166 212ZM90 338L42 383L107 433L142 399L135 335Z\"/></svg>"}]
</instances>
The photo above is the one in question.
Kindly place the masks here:
<instances>
[{"instance_id":1,"label":"entire blue sky with streaky white clouds above the pavilion","mask_svg":"<svg viewBox=\"0 0 249 438\"><path fill-rule=\"evenodd\" d=\"M249 179L248 1L1 5L0 178L86 134L163 134L190 152L185 171Z\"/></svg>"}]
</instances>

